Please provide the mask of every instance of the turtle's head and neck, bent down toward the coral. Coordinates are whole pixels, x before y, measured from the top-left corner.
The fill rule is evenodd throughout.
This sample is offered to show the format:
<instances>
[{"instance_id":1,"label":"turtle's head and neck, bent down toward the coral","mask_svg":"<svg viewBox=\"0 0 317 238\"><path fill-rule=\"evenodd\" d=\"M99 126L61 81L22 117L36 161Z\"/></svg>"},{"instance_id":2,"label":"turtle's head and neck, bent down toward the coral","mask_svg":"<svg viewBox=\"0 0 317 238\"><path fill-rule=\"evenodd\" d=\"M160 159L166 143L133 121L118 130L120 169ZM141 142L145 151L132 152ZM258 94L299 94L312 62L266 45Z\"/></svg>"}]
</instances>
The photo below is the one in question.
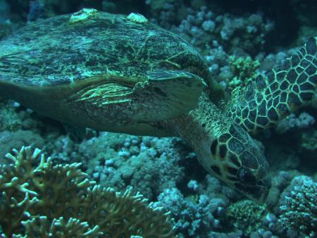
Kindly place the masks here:
<instances>
[{"instance_id":1,"label":"turtle's head and neck, bent down toward the coral","mask_svg":"<svg viewBox=\"0 0 317 238\"><path fill-rule=\"evenodd\" d=\"M271 187L268 162L249 134L228 118L205 92L197 108L154 127L166 130L194 149L209 173L258 203Z\"/></svg>"}]
</instances>

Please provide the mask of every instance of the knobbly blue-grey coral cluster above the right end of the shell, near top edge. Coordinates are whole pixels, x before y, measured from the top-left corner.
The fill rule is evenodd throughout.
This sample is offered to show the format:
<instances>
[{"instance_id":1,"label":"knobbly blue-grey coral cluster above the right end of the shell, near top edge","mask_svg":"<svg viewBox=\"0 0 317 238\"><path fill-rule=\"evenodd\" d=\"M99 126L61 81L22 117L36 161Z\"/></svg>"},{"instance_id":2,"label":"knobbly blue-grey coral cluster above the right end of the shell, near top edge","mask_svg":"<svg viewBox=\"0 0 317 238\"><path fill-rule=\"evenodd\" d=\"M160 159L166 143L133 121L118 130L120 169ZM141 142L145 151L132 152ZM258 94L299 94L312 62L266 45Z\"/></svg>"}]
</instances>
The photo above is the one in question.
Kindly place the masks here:
<instances>
[{"instance_id":1,"label":"knobbly blue-grey coral cluster above the right end of the shell, near top edge","mask_svg":"<svg viewBox=\"0 0 317 238\"><path fill-rule=\"evenodd\" d=\"M227 44L230 49L242 49L254 53L264 44L263 36L273 28L270 22L265 23L261 15L249 15L233 18L230 14L216 15L206 6L199 11L189 8L185 20L182 20L177 30L187 35L190 43L211 48L215 44ZM227 47L228 47L227 46Z\"/></svg>"}]
</instances>

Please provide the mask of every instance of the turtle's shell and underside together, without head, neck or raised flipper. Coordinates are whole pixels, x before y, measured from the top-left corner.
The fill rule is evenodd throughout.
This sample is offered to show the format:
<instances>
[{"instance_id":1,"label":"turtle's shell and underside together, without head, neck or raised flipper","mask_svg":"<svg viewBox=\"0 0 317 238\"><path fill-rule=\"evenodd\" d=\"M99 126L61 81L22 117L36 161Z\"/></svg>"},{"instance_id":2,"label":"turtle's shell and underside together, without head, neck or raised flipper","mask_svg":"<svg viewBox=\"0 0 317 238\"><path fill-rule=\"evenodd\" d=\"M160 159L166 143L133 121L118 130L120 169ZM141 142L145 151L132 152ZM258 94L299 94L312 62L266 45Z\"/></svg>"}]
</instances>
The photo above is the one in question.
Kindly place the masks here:
<instances>
[{"instance_id":1,"label":"turtle's shell and underside together, without head, neck or raised flipper","mask_svg":"<svg viewBox=\"0 0 317 238\"><path fill-rule=\"evenodd\" d=\"M5 39L0 75L1 93L13 100L57 120L109 130L192 110L208 70L185 39L140 15L83 9Z\"/></svg>"}]
</instances>

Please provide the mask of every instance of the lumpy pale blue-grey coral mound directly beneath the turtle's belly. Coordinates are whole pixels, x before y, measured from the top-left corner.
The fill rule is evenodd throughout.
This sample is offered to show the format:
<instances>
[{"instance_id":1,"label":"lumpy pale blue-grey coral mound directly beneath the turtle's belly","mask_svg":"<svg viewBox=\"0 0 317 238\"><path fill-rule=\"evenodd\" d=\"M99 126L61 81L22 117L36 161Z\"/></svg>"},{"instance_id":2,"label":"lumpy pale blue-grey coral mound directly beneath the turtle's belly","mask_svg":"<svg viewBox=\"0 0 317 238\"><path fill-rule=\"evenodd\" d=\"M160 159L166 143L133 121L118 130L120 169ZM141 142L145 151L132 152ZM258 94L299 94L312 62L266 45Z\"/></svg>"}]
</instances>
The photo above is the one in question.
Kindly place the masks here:
<instances>
[{"instance_id":1,"label":"lumpy pale blue-grey coral mound directly beneath the turtle's belly","mask_svg":"<svg viewBox=\"0 0 317 238\"><path fill-rule=\"evenodd\" d=\"M120 191L132 186L154 199L185 176L179 163L186 153L175 150L178 143L180 139L101 133L82 142L79 152L94 158L87 161L87 172L100 184Z\"/></svg>"}]
</instances>

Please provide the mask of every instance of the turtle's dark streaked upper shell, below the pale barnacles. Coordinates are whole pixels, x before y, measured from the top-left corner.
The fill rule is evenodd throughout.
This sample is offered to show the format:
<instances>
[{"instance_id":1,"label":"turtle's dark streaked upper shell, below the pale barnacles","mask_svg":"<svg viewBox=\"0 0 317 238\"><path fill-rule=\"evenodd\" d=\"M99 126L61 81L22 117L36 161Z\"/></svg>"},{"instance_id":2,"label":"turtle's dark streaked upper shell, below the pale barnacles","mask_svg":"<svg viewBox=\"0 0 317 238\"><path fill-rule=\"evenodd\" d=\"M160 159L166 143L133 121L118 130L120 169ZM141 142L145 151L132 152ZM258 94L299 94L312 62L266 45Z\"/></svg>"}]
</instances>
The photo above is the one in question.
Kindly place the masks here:
<instances>
[{"instance_id":1,"label":"turtle's dark streaked upper shell, below the pale barnacles","mask_svg":"<svg viewBox=\"0 0 317 238\"><path fill-rule=\"evenodd\" d=\"M2 80L54 86L109 75L135 84L156 68L184 68L192 61L188 55L195 54L177 35L124 15L99 13L79 23L69 19L61 15L31 23L6 39L0 46Z\"/></svg>"}]
</instances>

